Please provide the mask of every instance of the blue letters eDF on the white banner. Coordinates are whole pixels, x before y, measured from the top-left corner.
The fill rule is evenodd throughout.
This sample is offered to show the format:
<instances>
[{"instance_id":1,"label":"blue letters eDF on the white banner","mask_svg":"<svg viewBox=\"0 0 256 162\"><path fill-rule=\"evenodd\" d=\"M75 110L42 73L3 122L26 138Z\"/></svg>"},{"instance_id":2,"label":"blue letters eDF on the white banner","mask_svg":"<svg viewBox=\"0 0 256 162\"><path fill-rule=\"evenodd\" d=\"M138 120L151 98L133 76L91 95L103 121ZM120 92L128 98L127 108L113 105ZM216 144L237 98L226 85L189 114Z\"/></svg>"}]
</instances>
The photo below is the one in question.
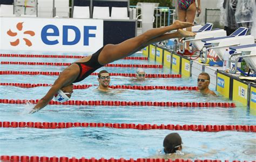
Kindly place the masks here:
<instances>
[{"instance_id":1,"label":"blue letters eDF on the white banner","mask_svg":"<svg viewBox=\"0 0 256 162\"><path fill-rule=\"evenodd\" d=\"M96 30L97 26L84 26L84 45L89 45L89 38L96 37L94 33L89 33L90 30ZM53 32L49 32L52 30ZM75 39L69 41L68 31L72 30L75 32ZM48 37L59 37L59 29L55 25L45 25L41 31L42 41L47 45L55 45L59 43L58 39L49 40ZM75 45L80 41L81 32L76 26L72 25L63 25L63 36L62 36L62 45Z\"/></svg>"}]
</instances>

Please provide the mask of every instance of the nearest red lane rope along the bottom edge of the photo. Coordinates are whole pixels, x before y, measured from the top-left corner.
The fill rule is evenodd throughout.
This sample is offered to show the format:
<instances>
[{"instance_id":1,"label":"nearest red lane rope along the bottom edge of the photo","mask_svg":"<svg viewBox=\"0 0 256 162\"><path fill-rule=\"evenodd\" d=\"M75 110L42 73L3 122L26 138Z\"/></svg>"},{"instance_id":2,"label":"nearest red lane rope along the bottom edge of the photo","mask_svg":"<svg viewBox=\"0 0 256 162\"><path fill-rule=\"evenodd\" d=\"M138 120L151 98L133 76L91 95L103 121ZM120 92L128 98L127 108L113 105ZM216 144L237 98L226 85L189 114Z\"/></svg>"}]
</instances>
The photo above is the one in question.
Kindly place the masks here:
<instances>
[{"instance_id":1,"label":"nearest red lane rope along the bottom edge of the photo","mask_svg":"<svg viewBox=\"0 0 256 162\"><path fill-rule=\"evenodd\" d=\"M138 159L124 159L124 158L120 158L120 159L114 159L114 158L110 158L110 159L105 159L105 158L100 158L100 159L95 159L95 158L91 158L91 159L86 159L85 157L82 158L76 158L76 157L39 157L39 156L1 156L2 161L21 161L21 162L221 162L221 160L190 160L190 159L160 159L160 158L138 158ZM228 160L225 160L225 162L229 162ZM239 160L233 160L233 162L242 162ZM244 161L247 162L247 161ZM252 161L255 162L255 161Z\"/></svg>"}]
</instances>

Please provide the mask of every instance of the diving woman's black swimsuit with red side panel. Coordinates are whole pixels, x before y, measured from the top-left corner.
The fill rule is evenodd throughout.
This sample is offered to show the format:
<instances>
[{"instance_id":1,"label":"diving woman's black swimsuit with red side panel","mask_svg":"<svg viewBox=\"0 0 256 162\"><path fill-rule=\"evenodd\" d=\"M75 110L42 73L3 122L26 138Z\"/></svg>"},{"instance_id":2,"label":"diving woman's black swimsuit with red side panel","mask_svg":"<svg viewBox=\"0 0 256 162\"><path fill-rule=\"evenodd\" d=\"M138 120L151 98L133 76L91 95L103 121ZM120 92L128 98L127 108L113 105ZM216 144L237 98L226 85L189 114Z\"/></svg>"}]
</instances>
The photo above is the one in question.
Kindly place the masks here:
<instances>
[{"instance_id":1,"label":"diving woman's black swimsuit with red side panel","mask_svg":"<svg viewBox=\"0 0 256 162\"><path fill-rule=\"evenodd\" d=\"M102 48L100 48L97 52L93 53L91 56L91 59L88 60L87 62L73 63L73 64L77 64L80 68L79 75L73 83L80 82L80 81L84 80L95 70L104 66L104 65L99 64L99 61L98 61L99 53L102 51L103 48L104 48L104 46Z\"/></svg>"}]
</instances>

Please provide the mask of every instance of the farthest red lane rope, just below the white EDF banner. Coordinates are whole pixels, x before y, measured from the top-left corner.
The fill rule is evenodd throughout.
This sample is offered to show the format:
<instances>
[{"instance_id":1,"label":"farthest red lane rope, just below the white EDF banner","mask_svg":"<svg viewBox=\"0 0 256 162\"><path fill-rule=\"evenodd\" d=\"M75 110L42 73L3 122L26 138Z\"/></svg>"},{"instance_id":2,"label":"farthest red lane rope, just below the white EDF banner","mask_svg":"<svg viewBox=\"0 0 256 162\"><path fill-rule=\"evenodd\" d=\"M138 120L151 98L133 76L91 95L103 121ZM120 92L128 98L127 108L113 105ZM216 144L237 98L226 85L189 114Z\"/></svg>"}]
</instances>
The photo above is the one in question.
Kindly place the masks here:
<instances>
[{"instance_id":1,"label":"farthest red lane rope, just below the white EDF banner","mask_svg":"<svg viewBox=\"0 0 256 162\"><path fill-rule=\"evenodd\" d=\"M84 58L86 56L76 56L76 55L33 55L33 54L5 54L5 53L0 53L0 57ZM148 60L147 57L125 57L123 59Z\"/></svg>"}]
</instances>

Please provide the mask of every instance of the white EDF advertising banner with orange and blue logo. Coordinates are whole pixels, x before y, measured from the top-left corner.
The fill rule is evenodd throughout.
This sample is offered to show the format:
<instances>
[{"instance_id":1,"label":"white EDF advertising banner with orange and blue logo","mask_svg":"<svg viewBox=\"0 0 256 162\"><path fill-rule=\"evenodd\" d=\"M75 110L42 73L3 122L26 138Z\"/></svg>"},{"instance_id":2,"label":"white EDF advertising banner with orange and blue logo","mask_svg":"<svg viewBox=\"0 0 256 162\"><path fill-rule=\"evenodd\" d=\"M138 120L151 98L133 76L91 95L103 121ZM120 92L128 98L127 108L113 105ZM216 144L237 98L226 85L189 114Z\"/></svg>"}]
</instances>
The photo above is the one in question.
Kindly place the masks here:
<instances>
[{"instance_id":1,"label":"white EDF advertising banner with orange and blue logo","mask_svg":"<svg viewBox=\"0 0 256 162\"><path fill-rule=\"evenodd\" d=\"M95 52L103 46L102 19L0 18L1 50Z\"/></svg>"}]
</instances>

